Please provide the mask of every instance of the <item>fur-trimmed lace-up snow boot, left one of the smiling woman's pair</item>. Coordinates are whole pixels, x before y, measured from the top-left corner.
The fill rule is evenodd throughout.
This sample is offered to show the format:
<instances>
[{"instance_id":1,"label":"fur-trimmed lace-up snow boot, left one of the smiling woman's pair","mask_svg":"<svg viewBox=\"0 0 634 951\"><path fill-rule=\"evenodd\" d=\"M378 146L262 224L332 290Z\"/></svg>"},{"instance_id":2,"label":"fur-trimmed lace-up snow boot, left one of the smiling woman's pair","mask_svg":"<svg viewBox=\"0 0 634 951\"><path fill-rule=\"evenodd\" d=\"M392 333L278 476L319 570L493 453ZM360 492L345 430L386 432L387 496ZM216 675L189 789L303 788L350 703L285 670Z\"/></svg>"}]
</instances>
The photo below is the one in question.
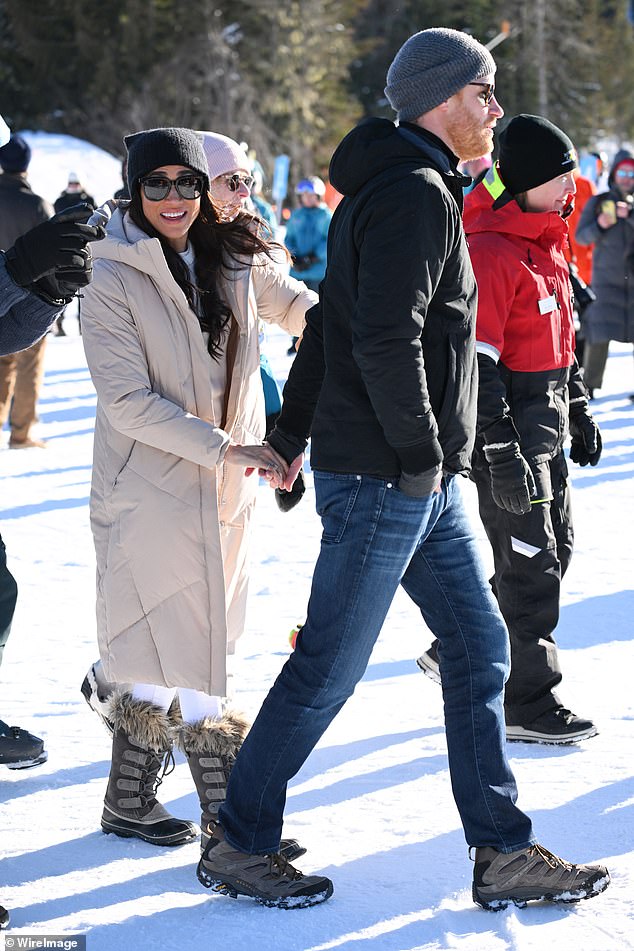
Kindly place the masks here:
<instances>
[{"instance_id":1,"label":"fur-trimmed lace-up snow boot, left one of the smiling woman's pair","mask_svg":"<svg viewBox=\"0 0 634 951\"><path fill-rule=\"evenodd\" d=\"M152 845L182 845L196 838L194 822L175 819L156 799L167 767L174 762L174 727L169 716L153 703L135 700L125 690L113 693L107 716L114 733L101 816L103 831Z\"/></svg>"}]
</instances>

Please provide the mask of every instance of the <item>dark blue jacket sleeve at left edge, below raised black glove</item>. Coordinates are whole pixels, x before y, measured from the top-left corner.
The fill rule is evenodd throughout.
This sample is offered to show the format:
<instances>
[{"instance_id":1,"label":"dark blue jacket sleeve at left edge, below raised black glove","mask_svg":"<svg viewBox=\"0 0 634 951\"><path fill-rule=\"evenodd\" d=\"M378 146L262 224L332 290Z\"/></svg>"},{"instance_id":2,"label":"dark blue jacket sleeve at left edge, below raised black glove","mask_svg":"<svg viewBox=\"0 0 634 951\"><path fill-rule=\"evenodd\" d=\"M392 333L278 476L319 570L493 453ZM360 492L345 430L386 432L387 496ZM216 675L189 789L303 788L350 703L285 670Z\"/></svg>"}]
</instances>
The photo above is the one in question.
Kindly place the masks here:
<instances>
[{"instance_id":1,"label":"dark blue jacket sleeve at left edge, below raised black glove","mask_svg":"<svg viewBox=\"0 0 634 951\"><path fill-rule=\"evenodd\" d=\"M0 251L0 355L26 350L43 337L62 307L15 284Z\"/></svg>"}]
</instances>

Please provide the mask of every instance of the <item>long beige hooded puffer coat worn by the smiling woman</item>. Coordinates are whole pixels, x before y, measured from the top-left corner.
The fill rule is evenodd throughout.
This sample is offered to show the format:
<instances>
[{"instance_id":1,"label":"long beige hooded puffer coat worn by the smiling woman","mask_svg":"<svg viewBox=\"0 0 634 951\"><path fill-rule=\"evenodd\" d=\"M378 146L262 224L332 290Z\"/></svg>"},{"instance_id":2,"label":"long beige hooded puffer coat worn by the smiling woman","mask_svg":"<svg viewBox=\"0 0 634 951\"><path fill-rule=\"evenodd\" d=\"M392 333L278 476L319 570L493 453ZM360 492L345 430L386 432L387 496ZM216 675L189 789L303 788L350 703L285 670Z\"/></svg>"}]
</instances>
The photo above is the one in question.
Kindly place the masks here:
<instances>
[{"instance_id":1,"label":"long beige hooded puffer coat worn by the smiling woman","mask_svg":"<svg viewBox=\"0 0 634 951\"><path fill-rule=\"evenodd\" d=\"M223 458L230 441L263 438L258 317L299 334L316 295L266 258L226 275L239 338L221 429L213 361L160 242L116 211L93 254L82 331L98 397L90 517L104 672L223 696L258 487Z\"/></svg>"}]
</instances>

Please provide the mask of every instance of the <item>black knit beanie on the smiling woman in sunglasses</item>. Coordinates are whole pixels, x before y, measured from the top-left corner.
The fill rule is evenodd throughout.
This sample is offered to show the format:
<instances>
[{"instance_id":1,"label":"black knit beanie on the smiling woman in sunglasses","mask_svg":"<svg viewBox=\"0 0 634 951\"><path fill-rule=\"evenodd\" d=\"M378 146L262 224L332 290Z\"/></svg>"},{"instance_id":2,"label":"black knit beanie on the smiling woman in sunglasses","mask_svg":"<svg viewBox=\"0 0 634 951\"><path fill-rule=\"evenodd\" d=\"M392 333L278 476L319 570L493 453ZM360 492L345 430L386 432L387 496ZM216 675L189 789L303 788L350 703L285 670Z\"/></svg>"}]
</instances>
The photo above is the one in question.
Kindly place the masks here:
<instances>
[{"instance_id":1,"label":"black knit beanie on the smiling woman in sunglasses","mask_svg":"<svg viewBox=\"0 0 634 951\"><path fill-rule=\"evenodd\" d=\"M140 178L161 165L186 165L198 172L209 187L209 168L202 140L191 129L146 129L126 135L128 150L128 189L134 188Z\"/></svg>"}]
</instances>

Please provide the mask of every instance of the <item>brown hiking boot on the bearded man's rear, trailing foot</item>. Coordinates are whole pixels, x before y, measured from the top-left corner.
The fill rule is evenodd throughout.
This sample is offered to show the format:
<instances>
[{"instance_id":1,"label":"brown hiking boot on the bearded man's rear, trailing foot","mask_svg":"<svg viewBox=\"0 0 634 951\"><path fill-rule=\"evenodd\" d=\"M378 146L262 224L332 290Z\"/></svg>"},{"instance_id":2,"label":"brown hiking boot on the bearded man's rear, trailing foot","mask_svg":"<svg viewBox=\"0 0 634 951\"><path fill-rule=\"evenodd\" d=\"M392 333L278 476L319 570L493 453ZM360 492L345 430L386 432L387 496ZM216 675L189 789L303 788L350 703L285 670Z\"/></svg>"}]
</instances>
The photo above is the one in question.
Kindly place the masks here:
<instances>
[{"instance_id":1,"label":"brown hiking boot on the bearded man's rear, trailing foot","mask_svg":"<svg viewBox=\"0 0 634 951\"><path fill-rule=\"evenodd\" d=\"M230 898L247 895L269 908L309 908L333 893L329 878L304 875L279 852L249 855L225 840L219 825L213 829L197 869L205 888Z\"/></svg>"}]
</instances>

